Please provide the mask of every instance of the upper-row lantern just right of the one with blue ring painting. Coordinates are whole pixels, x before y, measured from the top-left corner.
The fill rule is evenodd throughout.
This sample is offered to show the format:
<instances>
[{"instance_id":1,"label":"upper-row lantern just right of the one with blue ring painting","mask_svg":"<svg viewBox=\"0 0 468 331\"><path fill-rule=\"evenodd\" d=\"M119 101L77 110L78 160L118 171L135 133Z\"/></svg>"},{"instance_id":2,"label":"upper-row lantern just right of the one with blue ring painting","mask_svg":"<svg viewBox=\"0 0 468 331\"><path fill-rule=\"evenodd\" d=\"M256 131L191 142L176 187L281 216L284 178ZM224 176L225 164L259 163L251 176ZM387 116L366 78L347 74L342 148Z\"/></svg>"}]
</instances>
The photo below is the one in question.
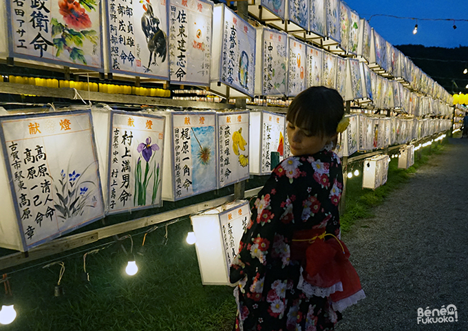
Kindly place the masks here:
<instances>
[{"instance_id":1,"label":"upper-row lantern just right of the one with blue ring painting","mask_svg":"<svg viewBox=\"0 0 468 331\"><path fill-rule=\"evenodd\" d=\"M268 28L257 28L255 72L256 95L286 95L288 67L288 34Z\"/></svg>"}]
</instances>

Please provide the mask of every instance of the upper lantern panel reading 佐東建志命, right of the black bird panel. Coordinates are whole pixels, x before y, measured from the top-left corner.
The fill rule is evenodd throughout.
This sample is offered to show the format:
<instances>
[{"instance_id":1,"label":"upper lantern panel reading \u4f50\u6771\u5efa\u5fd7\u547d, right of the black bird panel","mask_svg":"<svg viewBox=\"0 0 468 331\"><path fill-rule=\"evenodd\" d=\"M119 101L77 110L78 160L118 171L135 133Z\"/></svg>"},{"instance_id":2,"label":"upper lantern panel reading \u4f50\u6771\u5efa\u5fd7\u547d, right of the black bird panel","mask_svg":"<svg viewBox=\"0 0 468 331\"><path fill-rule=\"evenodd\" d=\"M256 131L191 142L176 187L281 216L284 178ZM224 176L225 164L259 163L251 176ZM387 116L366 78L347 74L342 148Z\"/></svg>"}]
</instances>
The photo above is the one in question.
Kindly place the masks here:
<instances>
[{"instance_id":1,"label":"upper lantern panel reading \u4f50\u6771\u5efa\u5fd7\u547d, right of the black bird panel","mask_svg":"<svg viewBox=\"0 0 468 331\"><path fill-rule=\"evenodd\" d=\"M213 3L173 0L169 10L171 83L209 86Z\"/></svg>"}]
</instances>

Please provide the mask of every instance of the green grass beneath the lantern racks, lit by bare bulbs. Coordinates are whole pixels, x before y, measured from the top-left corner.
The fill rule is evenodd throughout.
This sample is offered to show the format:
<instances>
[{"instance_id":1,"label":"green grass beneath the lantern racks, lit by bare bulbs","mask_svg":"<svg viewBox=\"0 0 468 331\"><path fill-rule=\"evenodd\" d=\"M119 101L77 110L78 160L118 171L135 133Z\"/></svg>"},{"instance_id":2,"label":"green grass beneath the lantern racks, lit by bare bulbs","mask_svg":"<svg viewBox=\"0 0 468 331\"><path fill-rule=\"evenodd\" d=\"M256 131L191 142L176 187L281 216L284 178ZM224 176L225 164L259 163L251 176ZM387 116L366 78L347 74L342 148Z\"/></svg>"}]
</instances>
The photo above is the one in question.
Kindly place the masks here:
<instances>
[{"instance_id":1,"label":"green grass beneath the lantern racks, lit by bare bulbs","mask_svg":"<svg viewBox=\"0 0 468 331\"><path fill-rule=\"evenodd\" d=\"M396 159L392 159L387 183L376 190L361 188L362 175L348 180L348 208L341 217L343 232L349 231L357 219L372 216L372 207L407 183L411 174L427 163L430 154L440 153L443 148L437 144L431 152L423 149L421 160L408 170L398 169ZM265 179L254 178L246 186L262 185ZM89 283L81 280L83 254L94 247L63 253L63 297L54 297L60 265L40 265L52 257L19 265L9 274L18 317L11 325L1 326L0 331L231 331L236 312L233 289L202 285L195 246L185 242L190 230L187 217L168 226L167 240L164 226L150 232L144 254L136 255L140 270L134 277L124 274L127 257L118 246L87 256ZM142 244L140 232L131 233L134 252ZM130 250L129 239L123 245Z\"/></svg>"}]
</instances>

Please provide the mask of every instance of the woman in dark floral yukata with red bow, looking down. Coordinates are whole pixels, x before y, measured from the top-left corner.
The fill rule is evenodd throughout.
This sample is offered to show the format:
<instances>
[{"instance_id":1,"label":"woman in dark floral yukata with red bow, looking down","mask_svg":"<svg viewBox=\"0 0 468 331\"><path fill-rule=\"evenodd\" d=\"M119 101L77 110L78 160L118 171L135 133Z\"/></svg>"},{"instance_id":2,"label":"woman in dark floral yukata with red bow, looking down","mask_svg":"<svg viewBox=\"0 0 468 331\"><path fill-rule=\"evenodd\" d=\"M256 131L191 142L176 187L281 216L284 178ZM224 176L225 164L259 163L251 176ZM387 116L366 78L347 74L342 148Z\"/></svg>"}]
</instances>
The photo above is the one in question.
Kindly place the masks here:
<instances>
[{"instance_id":1,"label":"woman in dark floral yukata with red bow, looking down","mask_svg":"<svg viewBox=\"0 0 468 331\"><path fill-rule=\"evenodd\" d=\"M231 283L238 282L235 330L333 330L341 319L335 310L343 306L334 307L330 298L343 290L340 270L330 261L345 252L337 239L343 174L332 152L343 115L343 99L325 87L308 88L288 108L293 156L273 170L259 192L231 265ZM316 243L322 243L318 250ZM313 263L318 269L308 273ZM352 301L362 299L359 290L360 284L351 289Z\"/></svg>"}]
</instances>

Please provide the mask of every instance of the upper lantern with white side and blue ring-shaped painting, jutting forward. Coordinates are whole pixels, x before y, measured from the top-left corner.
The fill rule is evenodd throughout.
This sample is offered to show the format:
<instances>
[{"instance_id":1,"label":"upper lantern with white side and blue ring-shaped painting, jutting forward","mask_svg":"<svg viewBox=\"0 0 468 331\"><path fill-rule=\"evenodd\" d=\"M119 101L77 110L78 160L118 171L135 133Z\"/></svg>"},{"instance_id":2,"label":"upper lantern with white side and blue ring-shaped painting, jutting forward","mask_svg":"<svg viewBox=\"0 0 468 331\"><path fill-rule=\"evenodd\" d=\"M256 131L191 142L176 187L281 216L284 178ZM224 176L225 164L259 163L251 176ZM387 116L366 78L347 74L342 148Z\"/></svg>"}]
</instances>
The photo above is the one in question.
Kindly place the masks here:
<instances>
[{"instance_id":1,"label":"upper lantern with white side and blue ring-shaped painting, jutting forward","mask_svg":"<svg viewBox=\"0 0 468 331\"><path fill-rule=\"evenodd\" d=\"M219 3L213 9L213 31L211 90L223 96L253 97L255 28Z\"/></svg>"}]
</instances>

